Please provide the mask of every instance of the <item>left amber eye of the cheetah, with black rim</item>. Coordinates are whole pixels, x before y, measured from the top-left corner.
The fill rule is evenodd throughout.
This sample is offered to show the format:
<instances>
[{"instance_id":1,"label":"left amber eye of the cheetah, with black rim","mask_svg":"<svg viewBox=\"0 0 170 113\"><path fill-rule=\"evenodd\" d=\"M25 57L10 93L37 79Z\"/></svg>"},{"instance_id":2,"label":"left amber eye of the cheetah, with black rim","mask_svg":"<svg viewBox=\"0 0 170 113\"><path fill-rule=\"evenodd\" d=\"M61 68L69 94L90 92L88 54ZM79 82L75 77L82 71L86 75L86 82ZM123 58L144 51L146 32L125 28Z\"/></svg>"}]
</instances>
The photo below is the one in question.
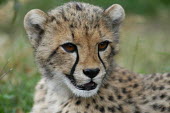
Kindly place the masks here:
<instances>
[{"instance_id":1,"label":"left amber eye of the cheetah, with black rim","mask_svg":"<svg viewBox=\"0 0 170 113\"><path fill-rule=\"evenodd\" d=\"M67 51L69 53L73 53L77 49L76 45L74 45L72 43L65 43L62 45L62 47L64 48L65 51Z\"/></svg>"}]
</instances>

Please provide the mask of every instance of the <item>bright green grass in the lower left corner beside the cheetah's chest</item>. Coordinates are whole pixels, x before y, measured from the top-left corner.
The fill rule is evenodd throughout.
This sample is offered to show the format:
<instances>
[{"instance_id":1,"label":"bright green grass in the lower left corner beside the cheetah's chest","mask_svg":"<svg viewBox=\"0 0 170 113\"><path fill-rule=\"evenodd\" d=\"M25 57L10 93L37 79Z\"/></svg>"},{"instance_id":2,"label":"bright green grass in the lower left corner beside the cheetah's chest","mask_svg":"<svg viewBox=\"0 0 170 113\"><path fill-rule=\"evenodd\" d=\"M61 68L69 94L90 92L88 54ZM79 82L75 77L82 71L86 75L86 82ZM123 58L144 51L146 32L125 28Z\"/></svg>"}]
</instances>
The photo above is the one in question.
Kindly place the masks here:
<instances>
[{"instance_id":1,"label":"bright green grass in the lower left corner beside the cheetah's chest","mask_svg":"<svg viewBox=\"0 0 170 113\"><path fill-rule=\"evenodd\" d=\"M14 73L13 73L14 74ZM37 75L28 77L24 73L16 73L16 80L21 78L17 84L6 81L1 83L0 88L0 113L16 113L19 109L29 112L33 104L33 92L35 83L39 79Z\"/></svg>"}]
</instances>

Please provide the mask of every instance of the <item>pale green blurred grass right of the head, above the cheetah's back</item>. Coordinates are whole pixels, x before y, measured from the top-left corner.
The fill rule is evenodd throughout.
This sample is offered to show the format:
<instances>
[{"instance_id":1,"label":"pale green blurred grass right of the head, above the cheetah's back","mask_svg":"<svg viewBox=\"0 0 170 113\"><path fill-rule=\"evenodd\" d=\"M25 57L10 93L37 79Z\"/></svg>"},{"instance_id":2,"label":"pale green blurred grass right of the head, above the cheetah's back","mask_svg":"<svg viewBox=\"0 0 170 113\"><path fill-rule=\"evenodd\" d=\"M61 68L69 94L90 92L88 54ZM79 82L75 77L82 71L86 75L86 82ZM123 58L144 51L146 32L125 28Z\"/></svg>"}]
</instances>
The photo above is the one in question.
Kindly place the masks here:
<instances>
[{"instance_id":1,"label":"pale green blurred grass right of the head, above the cheetah's back","mask_svg":"<svg viewBox=\"0 0 170 113\"><path fill-rule=\"evenodd\" d=\"M138 73L170 72L168 29L166 20L128 19L122 29L118 63Z\"/></svg>"}]
</instances>

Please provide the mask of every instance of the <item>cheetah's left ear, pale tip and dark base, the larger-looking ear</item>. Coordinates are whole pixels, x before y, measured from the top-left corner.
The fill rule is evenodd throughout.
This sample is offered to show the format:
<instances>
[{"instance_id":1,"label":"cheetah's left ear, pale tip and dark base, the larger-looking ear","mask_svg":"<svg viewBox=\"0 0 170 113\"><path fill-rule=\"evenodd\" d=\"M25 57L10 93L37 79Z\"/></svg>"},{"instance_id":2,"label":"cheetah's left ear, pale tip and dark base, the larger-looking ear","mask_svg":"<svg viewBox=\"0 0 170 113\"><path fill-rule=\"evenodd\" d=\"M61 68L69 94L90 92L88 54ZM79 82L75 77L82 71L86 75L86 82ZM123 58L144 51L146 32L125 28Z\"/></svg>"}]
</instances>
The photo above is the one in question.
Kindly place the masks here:
<instances>
[{"instance_id":1,"label":"cheetah's left ear, pale tip and dark base, the larger-looking ear","mask_svg":"<svg viewBox=\"0 0 170 113\"><path fill-rule=\"evenodd\" d=\"M24 27L30 43L34 48L38 46L41 36L44 33L47 17L47 14L39 9L29 11L24 17Z\"/></svg>"}]
</instances>

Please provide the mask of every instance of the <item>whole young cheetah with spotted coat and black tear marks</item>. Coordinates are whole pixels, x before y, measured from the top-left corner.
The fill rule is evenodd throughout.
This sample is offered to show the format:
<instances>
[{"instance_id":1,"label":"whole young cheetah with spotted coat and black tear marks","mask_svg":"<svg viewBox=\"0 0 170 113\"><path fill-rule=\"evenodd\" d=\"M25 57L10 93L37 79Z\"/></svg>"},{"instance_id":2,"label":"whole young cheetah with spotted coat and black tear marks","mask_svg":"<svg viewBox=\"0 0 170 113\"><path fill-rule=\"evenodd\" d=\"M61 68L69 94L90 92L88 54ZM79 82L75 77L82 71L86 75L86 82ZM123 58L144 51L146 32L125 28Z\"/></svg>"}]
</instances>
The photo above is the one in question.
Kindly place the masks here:
<instances>
[{"instance_id":1,"label":"whole young cheetah with spotted coat and black tear marks","mask_svg":"<svg viewBox=\"0 0 170 113\"><path fill-rule=\"evenodd\" d=\"M24 27L42 78L31 113L170 113L170 74L119 67L122 6L69 2L29 11Z\"/></svg>"}]
</instances>

